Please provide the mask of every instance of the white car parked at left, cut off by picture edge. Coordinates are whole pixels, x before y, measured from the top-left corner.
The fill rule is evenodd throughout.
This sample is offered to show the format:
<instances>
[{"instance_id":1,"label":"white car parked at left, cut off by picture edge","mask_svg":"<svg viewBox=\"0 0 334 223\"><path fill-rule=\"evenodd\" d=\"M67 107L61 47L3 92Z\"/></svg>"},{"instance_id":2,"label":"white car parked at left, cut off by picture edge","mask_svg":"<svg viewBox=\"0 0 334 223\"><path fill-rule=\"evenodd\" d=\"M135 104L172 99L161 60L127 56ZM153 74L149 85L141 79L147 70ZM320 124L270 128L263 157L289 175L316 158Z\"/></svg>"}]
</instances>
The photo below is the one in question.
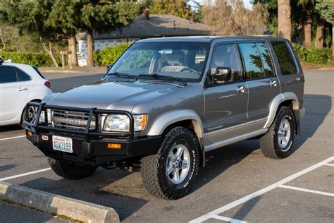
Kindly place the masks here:
<instances>
[{"instance_id":1,"label":"white car parked at left, cut off by picture edge","mask_svg":"<svg viewBox=\"0 0 334 223\"><path fill-rule=\"evenodd\" d=\"M27 102L40 102L51 94L51 83L35 66L14 64L0 57L0 126L20 124L23 114L35 116L35 107L25 111Z\"/></svg>"}]
</instances>

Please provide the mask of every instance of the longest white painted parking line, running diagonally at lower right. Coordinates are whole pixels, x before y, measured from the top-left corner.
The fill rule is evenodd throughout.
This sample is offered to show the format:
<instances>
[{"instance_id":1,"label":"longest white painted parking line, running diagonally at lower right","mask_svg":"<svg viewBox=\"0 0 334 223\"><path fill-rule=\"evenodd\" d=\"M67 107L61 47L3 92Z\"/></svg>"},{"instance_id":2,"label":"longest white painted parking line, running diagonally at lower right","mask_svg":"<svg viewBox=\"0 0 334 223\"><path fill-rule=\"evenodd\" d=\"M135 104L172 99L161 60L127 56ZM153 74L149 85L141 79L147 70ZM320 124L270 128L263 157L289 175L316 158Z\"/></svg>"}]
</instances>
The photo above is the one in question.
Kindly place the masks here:
<instances>
[{"instance_id":1,"label":"longest white painted parking line, running diagonally at lower right","mask_svg":"<svg viewBox=\"0 0 334 223\"><path fill-rule=\"evenodd\" d=\"M333 157L329 157L328 159L325 159L321 162L318 162L317 164L314 164L311 167L308 167L307 169L303 169L302 171L297 172L296 174L292 174L291 176L287 176L285 179L280 180L276 183L273 183L269 186L267 186L266 188L262 188L259 191L256 191L252 194L249 194L243 198L240 198L239 200L235 200L232 203L229 203L227 205L224 205L223 207L219 207L218 209L211 211L209 213L207 213L206 215L202 215L201 217L197 217L197 219L193 219L192 221L190 221L190 223L197 223L197 222L204 222L207 219L210 219L210 216L215 216L215 215L219 215L222 212L225 212L227 210L232 209L233 207L236 207L237 205L241 205L242 203L246 203L249 200L252 200L253 198L259 197L260 195L263 195L264 193L267 193L268 191L272 191L275 188L278 188L279 186L282 186L283 184L292 181L293 179L296 179L299 176L302 176L304 174L307 174L309 171L312 171L314 169L317 169L318 167L323 166L324 164L327 164L328 162L331 162L334 160L334 156Z\"/></svg>"}]
</instances>

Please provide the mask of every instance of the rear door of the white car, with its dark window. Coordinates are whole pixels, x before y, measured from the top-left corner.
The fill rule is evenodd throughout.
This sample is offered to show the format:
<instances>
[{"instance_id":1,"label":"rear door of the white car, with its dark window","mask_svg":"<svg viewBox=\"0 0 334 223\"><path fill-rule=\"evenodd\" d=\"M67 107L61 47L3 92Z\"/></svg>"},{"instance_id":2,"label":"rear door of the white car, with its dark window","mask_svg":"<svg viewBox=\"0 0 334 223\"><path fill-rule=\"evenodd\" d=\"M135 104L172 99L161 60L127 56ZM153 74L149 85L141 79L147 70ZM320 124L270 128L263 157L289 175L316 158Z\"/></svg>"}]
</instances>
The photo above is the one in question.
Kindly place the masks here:
<instances>
[{"instance_id":1,"label":"rear door of the white car, with its dark window","mask_svg":"<svg viewBox=\"0 0 334 223\"><path fill-rule=\"evenodd\" d=\"M22 76L17 68L0 66L0 121L11 120L21 114L31 83L27 80L30 76Z\"/></svg>"}]
</instances>

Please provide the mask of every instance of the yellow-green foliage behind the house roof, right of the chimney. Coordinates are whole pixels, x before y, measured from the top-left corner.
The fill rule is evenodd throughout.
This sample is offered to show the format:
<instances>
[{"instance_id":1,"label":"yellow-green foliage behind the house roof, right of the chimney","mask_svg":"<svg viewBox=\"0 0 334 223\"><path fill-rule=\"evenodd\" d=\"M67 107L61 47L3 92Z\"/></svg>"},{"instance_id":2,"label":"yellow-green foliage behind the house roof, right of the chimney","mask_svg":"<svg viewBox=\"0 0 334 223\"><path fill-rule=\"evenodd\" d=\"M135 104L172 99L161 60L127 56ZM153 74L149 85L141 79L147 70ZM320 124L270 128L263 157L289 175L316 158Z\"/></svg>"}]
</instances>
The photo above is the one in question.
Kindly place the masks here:
<instances>
[{"instance_id":1,"label":"yellow-green foliage behind the house roof, right of the chimney","mask_svg":"<svg viewBox=\"0 0 334 223\"><path fill-rule=\"evenodd\" d=\"M188 20L194 20L194 11L188 5L189 0L147 0L144 2L149 12L152 14L169 14L185 18Z\"/></svg>"}]
</instances>

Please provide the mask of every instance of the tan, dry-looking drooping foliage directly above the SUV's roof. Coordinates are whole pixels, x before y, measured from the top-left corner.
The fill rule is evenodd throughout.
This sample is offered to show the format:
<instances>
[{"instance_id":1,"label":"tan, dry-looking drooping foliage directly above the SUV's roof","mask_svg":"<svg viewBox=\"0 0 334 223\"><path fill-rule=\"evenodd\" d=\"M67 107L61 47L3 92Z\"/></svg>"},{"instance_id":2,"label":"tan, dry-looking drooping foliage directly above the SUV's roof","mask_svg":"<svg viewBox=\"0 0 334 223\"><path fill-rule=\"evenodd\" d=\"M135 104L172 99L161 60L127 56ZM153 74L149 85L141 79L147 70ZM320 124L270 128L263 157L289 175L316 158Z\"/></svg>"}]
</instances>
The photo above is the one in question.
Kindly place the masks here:
<instances>
[{"instance_id":1,"label":"tan, dry-looking drooping foliage directly above the SUV's roof","mask_svg":"<svg viewBox=\"0 0 334 223\"><path fill-rule=\"evenodd\" d=\"M202 8L203 22L214 28L217 35L259 35L266 29L266 6L256 4L245 8L242 0L216 0Z\"/></svg>"}]
</instances>

